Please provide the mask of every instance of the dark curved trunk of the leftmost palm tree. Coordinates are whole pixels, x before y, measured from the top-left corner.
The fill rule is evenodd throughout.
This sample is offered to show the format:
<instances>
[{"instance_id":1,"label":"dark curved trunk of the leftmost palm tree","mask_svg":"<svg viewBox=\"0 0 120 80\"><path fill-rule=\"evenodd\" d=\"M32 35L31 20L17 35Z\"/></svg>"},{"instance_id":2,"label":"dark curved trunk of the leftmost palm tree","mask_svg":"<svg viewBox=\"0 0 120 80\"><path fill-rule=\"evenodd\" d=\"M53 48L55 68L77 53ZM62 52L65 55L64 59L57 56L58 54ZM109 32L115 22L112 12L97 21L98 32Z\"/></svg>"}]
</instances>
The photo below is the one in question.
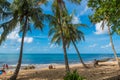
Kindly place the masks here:
<instances>
[{"instance_id":1,"label":"dark curved trunk of the leftmost palm tree","mask_svg":"<svg viewBox=\"0 0 120 80\"><path fill-rule=\"evenodd\" d=\"M22 55L23 55L23 46L24 46L24 37L25 37L25 33L26 33L26 26L27 25L27 18L24 24L24 30L23 30L23 35L22 35L22 42L21 42L21 47L20 47L20 56L19 56L19 60L18 60L18 64L17 67L15 69L14 74L10 77L9 80L16 80L20 67L21 67L21 63L22 63Z\"/></svg>"}]
</instances>

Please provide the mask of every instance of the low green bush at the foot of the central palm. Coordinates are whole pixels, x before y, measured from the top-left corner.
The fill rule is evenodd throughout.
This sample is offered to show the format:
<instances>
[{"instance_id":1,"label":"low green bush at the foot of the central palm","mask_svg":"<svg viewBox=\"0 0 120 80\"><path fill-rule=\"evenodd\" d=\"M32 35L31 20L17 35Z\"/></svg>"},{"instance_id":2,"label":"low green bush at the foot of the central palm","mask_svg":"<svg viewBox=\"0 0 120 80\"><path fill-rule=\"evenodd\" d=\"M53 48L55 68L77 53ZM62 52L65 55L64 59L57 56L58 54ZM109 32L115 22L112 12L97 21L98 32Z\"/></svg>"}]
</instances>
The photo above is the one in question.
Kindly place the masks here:
<instances>
[{"instance_id":1,"label":"low green bush at the foot of the central palm","mask_svg":"<svg viewBox=\"0 0 120 80\"><path fill-rule=\"evenodd\" d=\"M64 80L85 80L85 78L80 76L77 70L74 70L73 72L68 72L64 77Z\"/></svg>"}]
</instances>

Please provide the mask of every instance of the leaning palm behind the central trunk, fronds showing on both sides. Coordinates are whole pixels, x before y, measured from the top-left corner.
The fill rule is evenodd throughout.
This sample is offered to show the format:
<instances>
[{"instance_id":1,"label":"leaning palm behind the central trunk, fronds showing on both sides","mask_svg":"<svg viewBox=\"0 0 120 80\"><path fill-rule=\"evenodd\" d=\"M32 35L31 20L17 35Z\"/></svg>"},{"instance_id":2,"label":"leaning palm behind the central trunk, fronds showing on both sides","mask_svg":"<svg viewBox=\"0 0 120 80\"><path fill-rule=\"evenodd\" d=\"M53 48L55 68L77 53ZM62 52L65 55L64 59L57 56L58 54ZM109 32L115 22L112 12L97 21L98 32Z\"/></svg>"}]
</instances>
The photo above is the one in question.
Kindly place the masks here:
<instances>
[{"instance_id":1,"label":"leaning palm behind the central trunk, fronds showing on both sides","mask_svg":"<svg viewBox=\"0 0 120 80\"><path fill-rule=\"evenodd\" d=\"M52 35L52 43L57 43L58 45L60 45L60 43L62 42L61 40L61 29L59 28L59 24L57 23L57 19L56 16L53 16L54 19L52 19L51 24L50 24L50 32L49 32L49 36ZM65 15L63 17L63 22L62 22L62 32L63 32L63 36L64 36L64 40L65 40L65 45L67 48L69 48L70 44L73 43L77 53L78 53L78 57L80 59L80 62L83 64L83 66L85 68L87 68L87 66L84 64L81 56L80 56L80 52L75 44L75 42L78 42L79 40L84 40L84 34L83 32L81 32L79 30L79 28L81 26L86 26L84 24L73 24L72 21L73 16L69 16L68 14ZM58 24L58 25L57 25Z\"/></svg>"}]
</instances>

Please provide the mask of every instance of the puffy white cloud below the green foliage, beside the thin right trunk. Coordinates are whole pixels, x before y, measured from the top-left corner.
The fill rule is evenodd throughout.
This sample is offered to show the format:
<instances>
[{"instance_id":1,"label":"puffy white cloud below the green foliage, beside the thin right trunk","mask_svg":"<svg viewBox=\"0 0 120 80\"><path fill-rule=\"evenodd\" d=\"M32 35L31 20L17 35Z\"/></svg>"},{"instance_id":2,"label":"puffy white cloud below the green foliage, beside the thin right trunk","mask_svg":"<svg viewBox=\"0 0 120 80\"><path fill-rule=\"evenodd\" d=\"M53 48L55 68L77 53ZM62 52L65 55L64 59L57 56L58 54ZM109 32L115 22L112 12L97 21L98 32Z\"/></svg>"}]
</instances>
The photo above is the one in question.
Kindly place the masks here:
<instances>
[{"instance_id":1,"label":"puffy white cloud below the green foliage, beside the thin right trunk","mask_svg":"<svg viewBox=\"0 0 120 80\"><path fill-rule=\"evenodd\" d=\"M96 31L94 32L95 34L100 35L100 34L107 34L108 33L107 25L106 24L104 25L104 29L102 29L101 25L102 25L102 21L95 25L95 27L96 27L95 28Z\"/></svg>"}]
</instances>

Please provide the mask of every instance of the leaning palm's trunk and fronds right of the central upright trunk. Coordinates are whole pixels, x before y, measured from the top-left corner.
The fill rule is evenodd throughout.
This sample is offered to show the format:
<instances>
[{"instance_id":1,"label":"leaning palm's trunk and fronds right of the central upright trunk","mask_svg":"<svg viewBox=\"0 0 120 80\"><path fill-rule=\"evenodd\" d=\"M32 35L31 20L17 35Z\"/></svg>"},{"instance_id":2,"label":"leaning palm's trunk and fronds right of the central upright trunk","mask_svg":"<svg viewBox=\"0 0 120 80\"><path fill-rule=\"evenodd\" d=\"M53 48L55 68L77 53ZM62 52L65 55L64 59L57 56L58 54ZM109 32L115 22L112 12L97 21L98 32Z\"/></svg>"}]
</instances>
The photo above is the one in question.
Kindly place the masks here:
<instances>
[{"instance_id":1,"label":"leaning palm's trunk and fronds right of the central upright trunk","mask_svg":"<svg viewBox=\"0 0 120 80\"><path fill-rule=\"evenodd\" d=\"M73 24L73 23L70 23L72 21L72 16L70 16L70 17L67 16L66 18L67 18L66 19L67 21L65 21L65 22L66 22L66 26L67 27L64 27L64 28L66 28L64 30L66 30L65 31L66 32L66 36L65 37L66 37L67 46L69 48L69 45L71 43L73 44L73 46L74 46L74 48L75 48L75 50L76 50L76 52L78 54L78 57L80 59L80 62L82 63L82 65L85 68L88 68L86 66L86 64L83 62L82 57L80 55L80 52L79 52L79 50L78 50L78 48L76 46L76 42L79 42L81 40L85 40L84 39L84 34L83 34L82 31L79 30L79 28L81 26L86 26L86 25L85 24Z\"/></svg>"}]
</instances>

